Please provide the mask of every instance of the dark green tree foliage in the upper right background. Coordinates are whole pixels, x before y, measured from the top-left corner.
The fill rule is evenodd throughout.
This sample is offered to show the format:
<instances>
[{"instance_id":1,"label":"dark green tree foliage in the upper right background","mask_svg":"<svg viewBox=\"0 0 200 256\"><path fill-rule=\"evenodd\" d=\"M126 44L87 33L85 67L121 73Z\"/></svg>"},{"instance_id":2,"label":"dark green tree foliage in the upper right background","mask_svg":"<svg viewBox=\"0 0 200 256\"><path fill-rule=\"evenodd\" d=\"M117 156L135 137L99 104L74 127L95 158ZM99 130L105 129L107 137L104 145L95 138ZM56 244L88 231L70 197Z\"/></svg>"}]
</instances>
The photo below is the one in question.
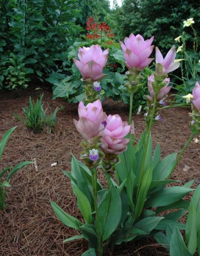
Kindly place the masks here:
<instances>
[{"instance_id":1,"label":"dark green tree foliage in the upper right background","mask_svg":"<svg viewBox=\"0 0 200 256\"><path fill-rule=\"evenodd\" d=\"M124 0L117 10L115 24L120 29L120 39L130 33L146 39L155 36L155 45L167 51L182 34L183 21L191 17L199 31L200 6L196 0ZM191 37L189 41L192 48Z\"/></svg>"}]
</instances>

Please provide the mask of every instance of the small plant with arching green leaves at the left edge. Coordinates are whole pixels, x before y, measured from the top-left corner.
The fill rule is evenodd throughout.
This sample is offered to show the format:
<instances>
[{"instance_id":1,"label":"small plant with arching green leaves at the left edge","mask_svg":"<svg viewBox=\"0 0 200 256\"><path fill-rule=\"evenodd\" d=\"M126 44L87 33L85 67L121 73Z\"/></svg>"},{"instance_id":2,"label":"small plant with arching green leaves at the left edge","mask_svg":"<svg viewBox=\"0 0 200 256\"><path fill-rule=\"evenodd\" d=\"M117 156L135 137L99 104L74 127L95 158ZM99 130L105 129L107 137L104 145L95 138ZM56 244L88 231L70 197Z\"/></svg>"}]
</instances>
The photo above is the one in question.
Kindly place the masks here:
<instances>
[{"instance_id":1,"label":"small plant with arching green leaves at the left edge","mask_svg":"<svg viewBox=\"0 0 200 256\"><path fill-rule=\"evenodd\" d=\"M7 141L9 140L11 134L13 133L14 129L16 129L16 127L13 127L11 129L9 129L7 132L5 132L1 142L0 142L0 161L2 158L2 154L5 148L5 145L7 144ZM0 171L0 208L2 210L5 209L6 204L5 204L5 194L6 194L6 188L10 187L9 184L9 180L11 179L11 177L13 176L14 173L16 173L20 168L22 168L25 165L29 165L32 162L30 161L25 161L22 163L19 163L18 165L16 165L14 168L12 168L11 166L6 167L5 169L3 169L2 171ZM4 176L4 174L9 171L9 174L7 175L7 178L2 181L2 177Z\"/></svg>"}]
</instances>

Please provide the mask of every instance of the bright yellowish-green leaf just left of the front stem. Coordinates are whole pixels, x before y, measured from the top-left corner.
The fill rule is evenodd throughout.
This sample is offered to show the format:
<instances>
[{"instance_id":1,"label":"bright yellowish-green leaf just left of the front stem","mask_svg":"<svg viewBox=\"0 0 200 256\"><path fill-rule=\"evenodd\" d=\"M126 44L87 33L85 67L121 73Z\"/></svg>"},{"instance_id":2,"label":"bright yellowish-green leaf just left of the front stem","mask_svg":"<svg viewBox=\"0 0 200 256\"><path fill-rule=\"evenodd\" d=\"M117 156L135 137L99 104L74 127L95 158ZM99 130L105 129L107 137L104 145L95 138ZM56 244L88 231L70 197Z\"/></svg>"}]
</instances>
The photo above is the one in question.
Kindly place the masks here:
<instances>
[{"instance_id":1,"label":"bright yellowish-green leaf just left of the front stem","mask_svg":"<svg viewBox=\"0 0 200 256\"><path fill-rule=\"evenodd\" d=\"M84 220L86 223L91 223L92 221L92 209L89 204L89 201L86 197L86 195L79 190L76 184L72 185L73 192L75 193L75 196L77 197L77 205L84 217Z\"/></svg>"}]
</instances>

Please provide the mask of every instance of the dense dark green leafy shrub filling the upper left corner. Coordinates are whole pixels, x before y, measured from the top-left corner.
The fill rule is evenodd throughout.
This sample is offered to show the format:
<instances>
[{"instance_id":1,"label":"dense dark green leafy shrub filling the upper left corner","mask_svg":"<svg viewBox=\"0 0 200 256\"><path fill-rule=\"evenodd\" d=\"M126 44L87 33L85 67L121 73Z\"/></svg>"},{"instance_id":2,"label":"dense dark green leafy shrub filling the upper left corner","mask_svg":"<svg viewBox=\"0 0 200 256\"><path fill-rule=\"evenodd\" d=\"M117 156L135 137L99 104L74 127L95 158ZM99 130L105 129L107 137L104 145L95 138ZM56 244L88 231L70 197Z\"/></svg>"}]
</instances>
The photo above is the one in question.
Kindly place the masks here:
<instances>
[{"instance_id":1,"label":"dense dark green leafy shrub filling the upper left corner","mask_svg":"<svg viewBox=\"0 0 200 256\"><path fill-rule=\"evenodd\" d=\"M9 88L25 88L28 78L43 81L51 70L64 68L66 50L82 30L75 24L77 8L76 0L1 1L1 86L7 75Z\"/></svg>"}]
</instances>

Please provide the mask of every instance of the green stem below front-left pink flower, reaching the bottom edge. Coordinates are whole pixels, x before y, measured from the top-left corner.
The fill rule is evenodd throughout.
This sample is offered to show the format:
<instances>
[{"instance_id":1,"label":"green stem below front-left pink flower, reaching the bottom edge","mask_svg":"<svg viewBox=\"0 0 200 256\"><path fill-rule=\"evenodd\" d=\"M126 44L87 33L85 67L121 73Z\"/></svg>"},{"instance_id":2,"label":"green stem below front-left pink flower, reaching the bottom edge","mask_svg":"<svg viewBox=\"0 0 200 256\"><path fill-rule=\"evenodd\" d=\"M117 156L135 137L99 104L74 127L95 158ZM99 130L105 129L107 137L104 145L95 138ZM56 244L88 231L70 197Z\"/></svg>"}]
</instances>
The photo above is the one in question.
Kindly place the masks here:
<instances>
[{"instance_id":1,"label":"green stem below front-left pink flower, reaching the bottom edge","mask_svg":"<svg viewBox=\"0 0 200 256\"><path fill-rule=\"evenodd\" d=\"M98 254L102 256L102 237L100 233L100 222L98 216L98 204L97 204L97 171L96 168L92 170L92 187L93 187L93 194L94 194L94 204L95 204L95 214L96 214L96 227L97 227L97 234L98 234Z\"/></svg>"}]
</instances>

